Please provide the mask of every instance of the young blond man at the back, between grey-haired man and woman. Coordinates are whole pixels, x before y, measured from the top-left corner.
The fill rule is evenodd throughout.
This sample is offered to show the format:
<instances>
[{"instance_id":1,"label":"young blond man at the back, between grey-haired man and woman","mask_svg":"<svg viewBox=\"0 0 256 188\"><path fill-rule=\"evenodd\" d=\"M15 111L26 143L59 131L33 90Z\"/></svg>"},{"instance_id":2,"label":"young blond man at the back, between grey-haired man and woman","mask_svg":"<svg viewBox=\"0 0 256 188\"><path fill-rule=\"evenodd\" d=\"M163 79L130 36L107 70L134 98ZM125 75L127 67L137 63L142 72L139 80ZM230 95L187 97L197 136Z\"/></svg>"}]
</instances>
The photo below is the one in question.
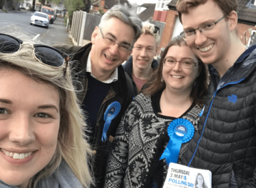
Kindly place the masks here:
<instances>
[{"instance_id":1,"label":"young blond man at the back, between grey-haired man and woman","mask_svg":"<svg viewBox=\"0 0 256 188\"><path fill-rule=\"evenodd\" d=\"M159 27L149 22L142 25L142 35L134 44L131 57L123 65L133 84L133 96L140 93L142 86L159 65L157 59L154 59L160 42Z\"/></svg>"}]
</instances>

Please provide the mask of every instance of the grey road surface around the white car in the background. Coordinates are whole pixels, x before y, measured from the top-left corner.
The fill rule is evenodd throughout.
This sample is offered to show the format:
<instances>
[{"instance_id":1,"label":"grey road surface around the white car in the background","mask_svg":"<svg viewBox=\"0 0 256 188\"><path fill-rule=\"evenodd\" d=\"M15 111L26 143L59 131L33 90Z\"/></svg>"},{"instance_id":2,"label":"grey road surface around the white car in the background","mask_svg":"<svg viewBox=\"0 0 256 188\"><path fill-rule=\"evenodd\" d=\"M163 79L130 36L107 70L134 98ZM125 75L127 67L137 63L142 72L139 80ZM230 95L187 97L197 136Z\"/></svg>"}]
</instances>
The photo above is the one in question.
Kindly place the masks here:
<instances>
[{"instance_id":1,"label":"grey road surface around the white car in the background","mask_svg":"<svg viewBox=\"0 0 256 188\"><path fill-rule=\"evenodd\" d=\"M68 31L66 31L66 25L64 18L57 18L53 24L49 25L49 28L40 27L37 25L30 25L30 17L33 12L14 11L3 13L0 12L0 27L1 25L10 25L14 23L16 26L21 27L23 31L32 33L37 36L42 42L49 45L52 44L73 44L68 38ZM1 29L0 29L1 32Z\"/></svg>"}]
</instances>

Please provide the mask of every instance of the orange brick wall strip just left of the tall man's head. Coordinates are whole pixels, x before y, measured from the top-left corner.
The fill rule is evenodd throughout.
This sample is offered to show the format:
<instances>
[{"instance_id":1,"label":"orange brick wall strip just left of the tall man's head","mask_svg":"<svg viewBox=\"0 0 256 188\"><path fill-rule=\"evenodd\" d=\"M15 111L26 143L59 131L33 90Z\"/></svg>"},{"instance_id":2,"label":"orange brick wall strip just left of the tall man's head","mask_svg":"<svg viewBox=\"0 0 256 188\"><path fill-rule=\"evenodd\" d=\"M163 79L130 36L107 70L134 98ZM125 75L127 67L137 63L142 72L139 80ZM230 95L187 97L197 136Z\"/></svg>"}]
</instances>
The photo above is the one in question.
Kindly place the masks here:
<instances>
[{"instance_id":1,"label":"orange brick wall strip just left of the tall man's head","mask_svg":"<svg viewBox=\"0 0 256 188\"><path fill-rule=\"evenodd\" d=\"M166 25L164 27L164 33L163 33L163 36L162 36L162 39L161 39L161 42L160 42L158 55L160 53L160 49L162 47L166 47L167 44L172 39L172 33L175 29L175 23L176 23L176 19L177 19L177 16L178 16L178 13L175 10L168 10L166 12L167 12Z\"/></svg>"}]
</instances>

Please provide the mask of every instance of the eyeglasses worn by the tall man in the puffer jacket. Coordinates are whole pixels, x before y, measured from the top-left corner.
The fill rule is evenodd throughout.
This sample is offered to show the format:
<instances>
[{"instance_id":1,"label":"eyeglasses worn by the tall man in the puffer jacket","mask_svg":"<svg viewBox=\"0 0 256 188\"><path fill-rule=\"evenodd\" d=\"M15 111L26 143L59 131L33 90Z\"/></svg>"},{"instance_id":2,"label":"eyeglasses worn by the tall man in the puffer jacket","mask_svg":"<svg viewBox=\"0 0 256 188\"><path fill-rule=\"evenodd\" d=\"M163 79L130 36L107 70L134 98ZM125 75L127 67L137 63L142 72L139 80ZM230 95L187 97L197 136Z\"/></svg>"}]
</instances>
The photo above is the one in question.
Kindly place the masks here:
<instances>
[{"instance_id":1,"label":"eyeglasses worn by the tall man in the puffer jacket","mask_svg":"<svg viewBox=\"0 0 256 188\"><path fill-rule=\"evenodd\" d=\"M214 33L215 28L216 28L216 24L221 21L223 18L225 18L225 16L227 16L227 14L225 14L222 18L220 18L218 21L216 22L209 22L209 23L205 23L203 25L201 25L199 28L199 31L207 36L209 34ZM197 29L185 29L184 31L182 31L180 33L180 35L183 37L184 40L192 40L196 37L196 30Z\"/></svg>"}]
</instances>

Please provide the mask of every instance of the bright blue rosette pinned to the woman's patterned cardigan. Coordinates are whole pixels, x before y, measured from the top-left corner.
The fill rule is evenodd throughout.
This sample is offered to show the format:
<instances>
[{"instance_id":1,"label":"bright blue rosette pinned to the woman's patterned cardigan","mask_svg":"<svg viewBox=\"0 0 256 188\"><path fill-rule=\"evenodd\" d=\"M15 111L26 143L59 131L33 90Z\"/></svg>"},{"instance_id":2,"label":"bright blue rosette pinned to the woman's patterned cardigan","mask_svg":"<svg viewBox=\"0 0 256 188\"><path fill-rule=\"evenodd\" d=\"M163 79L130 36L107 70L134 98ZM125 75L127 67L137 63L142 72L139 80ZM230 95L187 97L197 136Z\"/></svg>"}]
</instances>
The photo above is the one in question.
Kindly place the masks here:
<instances>
[{"instance_id":1,"label":"bright blue rosette pinned to the woman's patterned cardigan","mask_svg":"<svg viewBox=\"0 0 256 188\"><path fill-rule=\"evenodd\" d=\"M168 126L170 140L159 160L166 159L167 165L177 163L181 144L189 142L194 136L194 126L189 120L178 118L170 122Z\"/></svg>"}]
</instances>

